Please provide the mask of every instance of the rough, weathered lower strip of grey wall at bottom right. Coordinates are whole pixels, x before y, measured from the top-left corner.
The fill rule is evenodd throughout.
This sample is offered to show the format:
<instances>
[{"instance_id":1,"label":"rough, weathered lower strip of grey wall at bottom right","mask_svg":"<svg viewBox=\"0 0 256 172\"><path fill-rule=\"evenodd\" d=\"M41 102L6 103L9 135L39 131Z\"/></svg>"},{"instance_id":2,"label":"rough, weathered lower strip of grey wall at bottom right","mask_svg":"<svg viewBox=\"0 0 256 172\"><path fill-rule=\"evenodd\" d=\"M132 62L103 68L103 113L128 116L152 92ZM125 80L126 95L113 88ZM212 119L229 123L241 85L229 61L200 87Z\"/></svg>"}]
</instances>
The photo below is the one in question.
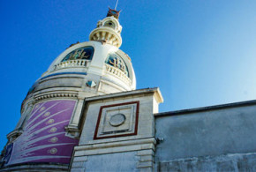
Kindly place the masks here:
<instances>
[{"instance_id":1,"label":"rough, weathered lower strip of grey wall at bottom right","mask_svg":"<svg viewBox=\"0 0 256 172\"><path fill-rule=\"evenodd\" d=\"M157 171L256 171L256 153L177 159L156 165Z\"/></svg>"}]
</instances>

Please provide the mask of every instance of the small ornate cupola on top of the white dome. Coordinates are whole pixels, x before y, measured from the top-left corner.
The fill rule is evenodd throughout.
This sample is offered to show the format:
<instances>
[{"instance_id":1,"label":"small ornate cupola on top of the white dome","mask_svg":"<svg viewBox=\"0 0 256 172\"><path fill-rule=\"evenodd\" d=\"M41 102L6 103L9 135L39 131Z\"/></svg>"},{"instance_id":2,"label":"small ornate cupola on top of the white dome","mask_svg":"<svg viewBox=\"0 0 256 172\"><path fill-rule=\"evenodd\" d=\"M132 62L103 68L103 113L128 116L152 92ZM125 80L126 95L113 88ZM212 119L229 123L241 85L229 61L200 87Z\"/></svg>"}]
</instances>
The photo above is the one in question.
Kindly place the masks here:
<instances>
[{"instance_id":1,"label":"small ornate cupola on top of the white dome","mask_svg":"<svg viewBox=\"0 0 256 172\"><path fill-rule=\"evenodd\" d=\"M122 44L122 26L118 22L119 12L109 9L107 18L98 21L97 27L89 36L90 41L102 41L119 48Z\"/></svg>"}]
</instances>

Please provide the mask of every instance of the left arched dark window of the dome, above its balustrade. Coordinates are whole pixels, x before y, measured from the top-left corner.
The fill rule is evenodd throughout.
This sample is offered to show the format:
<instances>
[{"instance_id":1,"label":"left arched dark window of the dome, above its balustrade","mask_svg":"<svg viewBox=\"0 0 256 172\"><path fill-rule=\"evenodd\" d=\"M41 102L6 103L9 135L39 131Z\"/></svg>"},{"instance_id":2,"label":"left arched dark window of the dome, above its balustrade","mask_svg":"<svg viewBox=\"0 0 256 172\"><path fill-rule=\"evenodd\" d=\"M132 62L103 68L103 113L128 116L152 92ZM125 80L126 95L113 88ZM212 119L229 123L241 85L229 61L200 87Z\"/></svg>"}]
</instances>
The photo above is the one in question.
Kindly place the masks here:
<instances>
[{"instance_id":1,"label":"left arched dark window of the dome, above its balustrade","mask_svg":"<svg viewBox=\"0 0 256 172\"><path fill-rule=\"evenodd\" d=\"M94 56L94 48L93 47L82 47L79 49L73 50L67 56L64 57L62 62L68 60L92 60Z\"/></svg>"}]
</instances>

